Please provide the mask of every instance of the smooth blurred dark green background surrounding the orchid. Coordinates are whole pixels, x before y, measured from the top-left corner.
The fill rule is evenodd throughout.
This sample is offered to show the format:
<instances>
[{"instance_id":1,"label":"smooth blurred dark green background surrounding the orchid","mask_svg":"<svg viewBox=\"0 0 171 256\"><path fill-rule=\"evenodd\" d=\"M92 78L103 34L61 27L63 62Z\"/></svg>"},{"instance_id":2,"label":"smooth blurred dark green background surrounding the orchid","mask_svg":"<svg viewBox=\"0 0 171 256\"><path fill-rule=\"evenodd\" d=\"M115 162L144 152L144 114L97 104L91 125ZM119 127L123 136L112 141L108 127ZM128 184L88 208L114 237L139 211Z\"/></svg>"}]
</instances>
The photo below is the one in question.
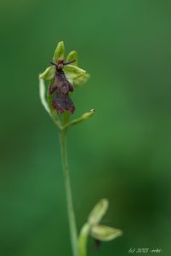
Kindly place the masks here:
<instances>
[{"instance_id":1,"label":"smooth blurred dark green background surrounding the orchid","mask_svg":"<svg viewBox=\"0 0 171 256\"><path fill-rule=\"evenodd\" d=\"M100 198L123 230L88 255L131 247L170 254L171 1L0 3L0 255L71 255L58 135L38 95L56 44L77 49L91 79L75 90L68 134L79 229ZM151 253L148 253L151 255Z\"/></svg>"}]
</instances>

